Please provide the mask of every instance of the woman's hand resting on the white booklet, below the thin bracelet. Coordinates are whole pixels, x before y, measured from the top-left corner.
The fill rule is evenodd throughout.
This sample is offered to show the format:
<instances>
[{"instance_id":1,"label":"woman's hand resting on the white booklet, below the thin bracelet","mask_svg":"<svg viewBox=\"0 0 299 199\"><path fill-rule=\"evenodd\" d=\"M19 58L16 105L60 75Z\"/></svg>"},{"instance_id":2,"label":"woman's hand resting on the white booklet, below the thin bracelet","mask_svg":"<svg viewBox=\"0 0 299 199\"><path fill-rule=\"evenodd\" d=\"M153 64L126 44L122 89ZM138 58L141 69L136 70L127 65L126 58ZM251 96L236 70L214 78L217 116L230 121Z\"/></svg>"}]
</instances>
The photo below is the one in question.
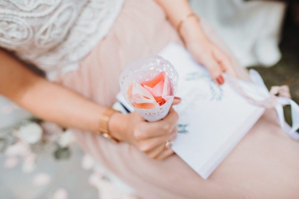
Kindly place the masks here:
<instances>
[{"instance_id":1,"label":"woman's hand resting on the white booklet, below the thin bracelet","mask_svg":"<svg viewBox=\"0 0 299 199\"><path fill-rule=\"evenodd\" d=\"M206 36L195 17L188 18L182 24L180 34L187 50L198 63L208 69L216 83L224 83L223 72L236 75L230 57Z\"/></svg>"}]
</instances>

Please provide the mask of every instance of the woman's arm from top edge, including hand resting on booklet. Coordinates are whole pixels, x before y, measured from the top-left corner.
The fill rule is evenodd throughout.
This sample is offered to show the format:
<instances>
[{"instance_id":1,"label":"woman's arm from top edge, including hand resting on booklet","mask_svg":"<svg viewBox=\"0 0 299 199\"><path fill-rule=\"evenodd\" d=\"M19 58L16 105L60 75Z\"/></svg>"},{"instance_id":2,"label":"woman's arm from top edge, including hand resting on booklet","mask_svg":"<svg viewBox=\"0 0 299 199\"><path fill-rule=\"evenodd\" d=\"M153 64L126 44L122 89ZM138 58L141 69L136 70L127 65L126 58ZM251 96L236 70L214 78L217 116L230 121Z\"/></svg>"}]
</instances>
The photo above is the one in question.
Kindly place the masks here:
<instances>
[{"instance_id":1,"label":"woman's arm from top edge, including hand resting on booklet","mask_svg":"<svg viewBox=\"0 0 299 199\"><path fill-rule=\"evenodd\" d=\"M156 1L164 9L168 20L175 28L185 16L192 13L187 0ZM184 20L178 29L178 34L194 59L209 70L218 84L224 83L222 72L235 75L230 57L208 38L196 17Z\"/></svg>"}]
</instances>

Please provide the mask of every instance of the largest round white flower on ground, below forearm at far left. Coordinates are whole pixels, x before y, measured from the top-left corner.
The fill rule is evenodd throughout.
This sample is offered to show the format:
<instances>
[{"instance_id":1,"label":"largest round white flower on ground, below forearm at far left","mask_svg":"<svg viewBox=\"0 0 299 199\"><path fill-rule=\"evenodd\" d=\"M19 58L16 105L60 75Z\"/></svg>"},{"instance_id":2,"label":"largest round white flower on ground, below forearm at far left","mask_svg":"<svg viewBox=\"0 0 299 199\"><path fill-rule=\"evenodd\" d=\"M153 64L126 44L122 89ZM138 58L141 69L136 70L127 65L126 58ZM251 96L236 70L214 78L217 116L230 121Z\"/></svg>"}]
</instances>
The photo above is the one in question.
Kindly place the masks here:
<instances>
[{"instance_id":1,"label":"largest round white flower on ground, below forearm at far left","mask_svg":"<svg viewBox=\"0 0 299 199\"><path fill-rule=\"evenodd\" d=\"M34 144L41 139L42 128L37 123L27 123L19 128L16 135L23 142Z\"/></svg>"}]
</instances>

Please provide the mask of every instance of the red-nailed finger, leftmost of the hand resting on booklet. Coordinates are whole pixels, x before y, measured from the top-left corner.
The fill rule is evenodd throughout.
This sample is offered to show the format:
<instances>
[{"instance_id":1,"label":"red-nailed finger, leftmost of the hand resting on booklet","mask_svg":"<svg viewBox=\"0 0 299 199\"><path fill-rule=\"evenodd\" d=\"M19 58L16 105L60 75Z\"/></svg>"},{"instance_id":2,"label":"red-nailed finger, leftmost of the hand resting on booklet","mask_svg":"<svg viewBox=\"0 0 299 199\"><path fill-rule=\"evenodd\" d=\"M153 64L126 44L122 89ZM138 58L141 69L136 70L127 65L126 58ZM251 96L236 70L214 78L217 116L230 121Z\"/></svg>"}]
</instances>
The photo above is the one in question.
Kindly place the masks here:
<instances>
[{"instance_id":1,"label":"red-nailed finger, leftmost of the hand resting on booklet","mask_svg":"<svg viewBox=\"0 0 299 199\"><path fill-rule=\"evenodd\" d=\"M221 82L219 82L219 77L222 76L222 69L218 64L217 60L215 60L213 56L207 55L205 56L202 63L211 74L212 79L216 83L220 84Z\"/></svg>"}]
</instances>

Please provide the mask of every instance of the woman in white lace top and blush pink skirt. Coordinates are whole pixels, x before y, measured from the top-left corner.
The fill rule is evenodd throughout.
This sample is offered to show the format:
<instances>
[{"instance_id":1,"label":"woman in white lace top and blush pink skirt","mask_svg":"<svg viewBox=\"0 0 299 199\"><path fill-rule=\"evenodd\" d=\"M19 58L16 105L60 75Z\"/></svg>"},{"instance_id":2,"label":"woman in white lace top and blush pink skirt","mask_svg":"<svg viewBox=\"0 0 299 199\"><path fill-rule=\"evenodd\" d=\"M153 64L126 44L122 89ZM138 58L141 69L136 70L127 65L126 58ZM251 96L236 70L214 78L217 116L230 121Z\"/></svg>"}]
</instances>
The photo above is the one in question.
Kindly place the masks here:
<instances>
[{"instance_id":1,"label":"woman in white lace top and blush pink skirt","mask_svg":"<svg viewBox=\"0 0 299 199\"><path fill-rule=\"evenodd\" d=\"M165 146L176 136L173 109L146 122L109 108L124 67L170 41L185 45L218 84L224 71L246 78L186 0L1 0L0 20L0 45L54 81L0 51L0 94L73 128L81 146L143 198L299 197L299 146L281 132L273 110L204 181Z\"/></svg>"}]
</instances>

